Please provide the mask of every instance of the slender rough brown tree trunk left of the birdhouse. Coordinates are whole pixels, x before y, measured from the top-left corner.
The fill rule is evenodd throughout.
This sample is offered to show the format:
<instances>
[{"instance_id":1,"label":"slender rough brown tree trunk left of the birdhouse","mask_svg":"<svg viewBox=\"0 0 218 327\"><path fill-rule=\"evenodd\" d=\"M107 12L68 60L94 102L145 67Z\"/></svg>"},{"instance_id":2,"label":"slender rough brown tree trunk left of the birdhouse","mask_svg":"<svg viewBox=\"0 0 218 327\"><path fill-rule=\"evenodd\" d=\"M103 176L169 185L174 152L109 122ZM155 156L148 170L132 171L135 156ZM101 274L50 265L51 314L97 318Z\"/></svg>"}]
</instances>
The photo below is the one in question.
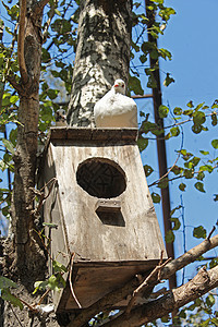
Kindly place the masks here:
<instances>
[{"instance_id":1,"label":"slender rough brown tree trunk left of the birdhouse","mask_svg":"<svg viewBox=\"0 0 218 327\"><path fill-rule=\"evenodd\" d=\"M33 215L35 171L37 160L38 113L39 113L39 76L41 57L41 19L47 1L21 2L20 35L17 40L20 84L13 76L9 82L20 95L17 110L17 146L14 155L14 187L12 194L12 232L4 246L3 275L19 283L12 293L28 305L35 303L34 282L45 279L46 256L40 247ZM36 302L37 303L37 302ZM4 302L3 326L45 326L45 319L29 315L29 308L21 311ZM52 317L50 318L52 320ZM43 325L41 325L43 324ZM49 324L47 325L49 326ZM52 326L56 326L52 322Z\"/></svg>"}]
</instances>

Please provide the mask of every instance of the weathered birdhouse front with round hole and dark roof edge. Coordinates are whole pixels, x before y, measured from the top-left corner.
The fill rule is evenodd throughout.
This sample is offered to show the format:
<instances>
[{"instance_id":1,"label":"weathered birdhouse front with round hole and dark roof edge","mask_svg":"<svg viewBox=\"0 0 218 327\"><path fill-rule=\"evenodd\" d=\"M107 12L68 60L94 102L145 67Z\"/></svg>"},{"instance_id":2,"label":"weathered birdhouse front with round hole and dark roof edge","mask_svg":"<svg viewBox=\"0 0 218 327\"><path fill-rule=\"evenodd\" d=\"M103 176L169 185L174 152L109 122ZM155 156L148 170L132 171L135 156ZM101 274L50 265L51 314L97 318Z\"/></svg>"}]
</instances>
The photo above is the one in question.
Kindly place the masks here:
<instances>
[{"instance_id":1,"label":"weathered birdhouse front with round hole and dark roof edge","mask_svg":"<svg viewBox=\"0 0 218 327\"><path fill-rule=\"evenodd\" d=\"M51 130L62 240L78 262L149 262L165 249L135 140L135 130Z\"/></svg>"}]
</instances>

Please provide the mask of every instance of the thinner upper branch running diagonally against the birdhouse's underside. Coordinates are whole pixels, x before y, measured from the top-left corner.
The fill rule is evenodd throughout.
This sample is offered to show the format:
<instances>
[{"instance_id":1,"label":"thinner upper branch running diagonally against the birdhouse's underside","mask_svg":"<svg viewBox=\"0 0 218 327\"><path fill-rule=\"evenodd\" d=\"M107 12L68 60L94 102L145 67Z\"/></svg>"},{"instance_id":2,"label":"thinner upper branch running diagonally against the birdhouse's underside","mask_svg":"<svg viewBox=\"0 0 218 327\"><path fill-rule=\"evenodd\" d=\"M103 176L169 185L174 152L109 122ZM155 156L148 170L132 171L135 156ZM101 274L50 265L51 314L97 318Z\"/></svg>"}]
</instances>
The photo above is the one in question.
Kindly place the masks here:
<instances>
[{"instance_id":1,"label":"thinner upper branch running diagonally against the birdhouse's underside","mask_svg":"<svg viewBox=\"0 0 218 327\"><path fill-rule=\"evenodd\" d=\"M159 280L169 278L175 271L182 269L183 267L187 266L189 264L195 262L202 254L205 252L218 246L218 234L211 239L204 240L201 244L196 245L195 247L191 249L179 258L173 259L172 262L168 263L162 270L160 271ZM149 279L149 283L147 283L146 288L144 288L144 292L148 292L148 290L153 289L155 284L159 283L157 279L158 271L156 271L153 278ZM147 271L148 276L149 271ZM218 278L218 276L217 276ZM123 300L129 294L133 293L134 290L138 287L140 282L136 278L126 282L120 289L111 291L102 299L98 300L96 303L90 305L87 308L84 308L74 320L71 322L69 327L80 327L83 326L86 322L88 322L92 317L94 317L99 312L102 312L107 308L110 308L116 303ZM132 314L133 312L131 312ZM126 327L130 325L125 325ZM132 325L131 325L132 327Z\"/></svg>"}]
</instances>

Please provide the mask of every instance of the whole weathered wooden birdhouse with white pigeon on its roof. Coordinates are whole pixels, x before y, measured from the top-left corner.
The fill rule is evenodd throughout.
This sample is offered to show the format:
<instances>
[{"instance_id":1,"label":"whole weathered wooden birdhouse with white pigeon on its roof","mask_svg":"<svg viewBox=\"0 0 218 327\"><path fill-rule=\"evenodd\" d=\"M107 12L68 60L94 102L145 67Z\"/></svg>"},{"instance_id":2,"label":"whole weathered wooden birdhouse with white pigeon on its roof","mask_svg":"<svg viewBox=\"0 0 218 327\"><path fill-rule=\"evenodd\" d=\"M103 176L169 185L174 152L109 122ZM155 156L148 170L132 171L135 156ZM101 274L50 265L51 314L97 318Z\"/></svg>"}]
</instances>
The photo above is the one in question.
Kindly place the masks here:
<instances>
[{"instance_id":1,"label":"whole weathered wooden birdhouse with white pigeon on its roof","mask_svg":"<svg viewBox=\"0 0 218 327\"><path fill-rule=\"evenodd\" d=\"M52 257L69 265L73 255L65 278L82 307L154 268L165 250L136 137L135 129L84 128L48 136L40 180L57 183L44 220L57 225ZM53 296L58 312L78 308L68 283Z\"/></svg>"}]
</instances>

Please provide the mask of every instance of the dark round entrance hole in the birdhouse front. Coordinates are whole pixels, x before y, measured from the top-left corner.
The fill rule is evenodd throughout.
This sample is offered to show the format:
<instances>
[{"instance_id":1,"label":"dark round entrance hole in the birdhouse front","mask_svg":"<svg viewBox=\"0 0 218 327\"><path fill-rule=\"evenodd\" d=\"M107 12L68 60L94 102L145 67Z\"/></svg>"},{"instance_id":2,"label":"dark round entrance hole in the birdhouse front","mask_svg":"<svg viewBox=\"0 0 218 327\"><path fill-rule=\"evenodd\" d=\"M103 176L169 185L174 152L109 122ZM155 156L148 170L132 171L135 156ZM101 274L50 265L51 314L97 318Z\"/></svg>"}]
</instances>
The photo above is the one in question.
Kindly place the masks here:
<instances>
[{"instance_id":1,"label":"dark round entrance hole in the birdhouse front","mask_svg":"<svg viewBox=\"0 0 218 327\"><path fill-rule=\"evenodd\" d=\"M119 196L126 187L122 168L105 158L90 158L80 164L76 181L89 195L104 198Z\"/></svg>"}]
</instances>

